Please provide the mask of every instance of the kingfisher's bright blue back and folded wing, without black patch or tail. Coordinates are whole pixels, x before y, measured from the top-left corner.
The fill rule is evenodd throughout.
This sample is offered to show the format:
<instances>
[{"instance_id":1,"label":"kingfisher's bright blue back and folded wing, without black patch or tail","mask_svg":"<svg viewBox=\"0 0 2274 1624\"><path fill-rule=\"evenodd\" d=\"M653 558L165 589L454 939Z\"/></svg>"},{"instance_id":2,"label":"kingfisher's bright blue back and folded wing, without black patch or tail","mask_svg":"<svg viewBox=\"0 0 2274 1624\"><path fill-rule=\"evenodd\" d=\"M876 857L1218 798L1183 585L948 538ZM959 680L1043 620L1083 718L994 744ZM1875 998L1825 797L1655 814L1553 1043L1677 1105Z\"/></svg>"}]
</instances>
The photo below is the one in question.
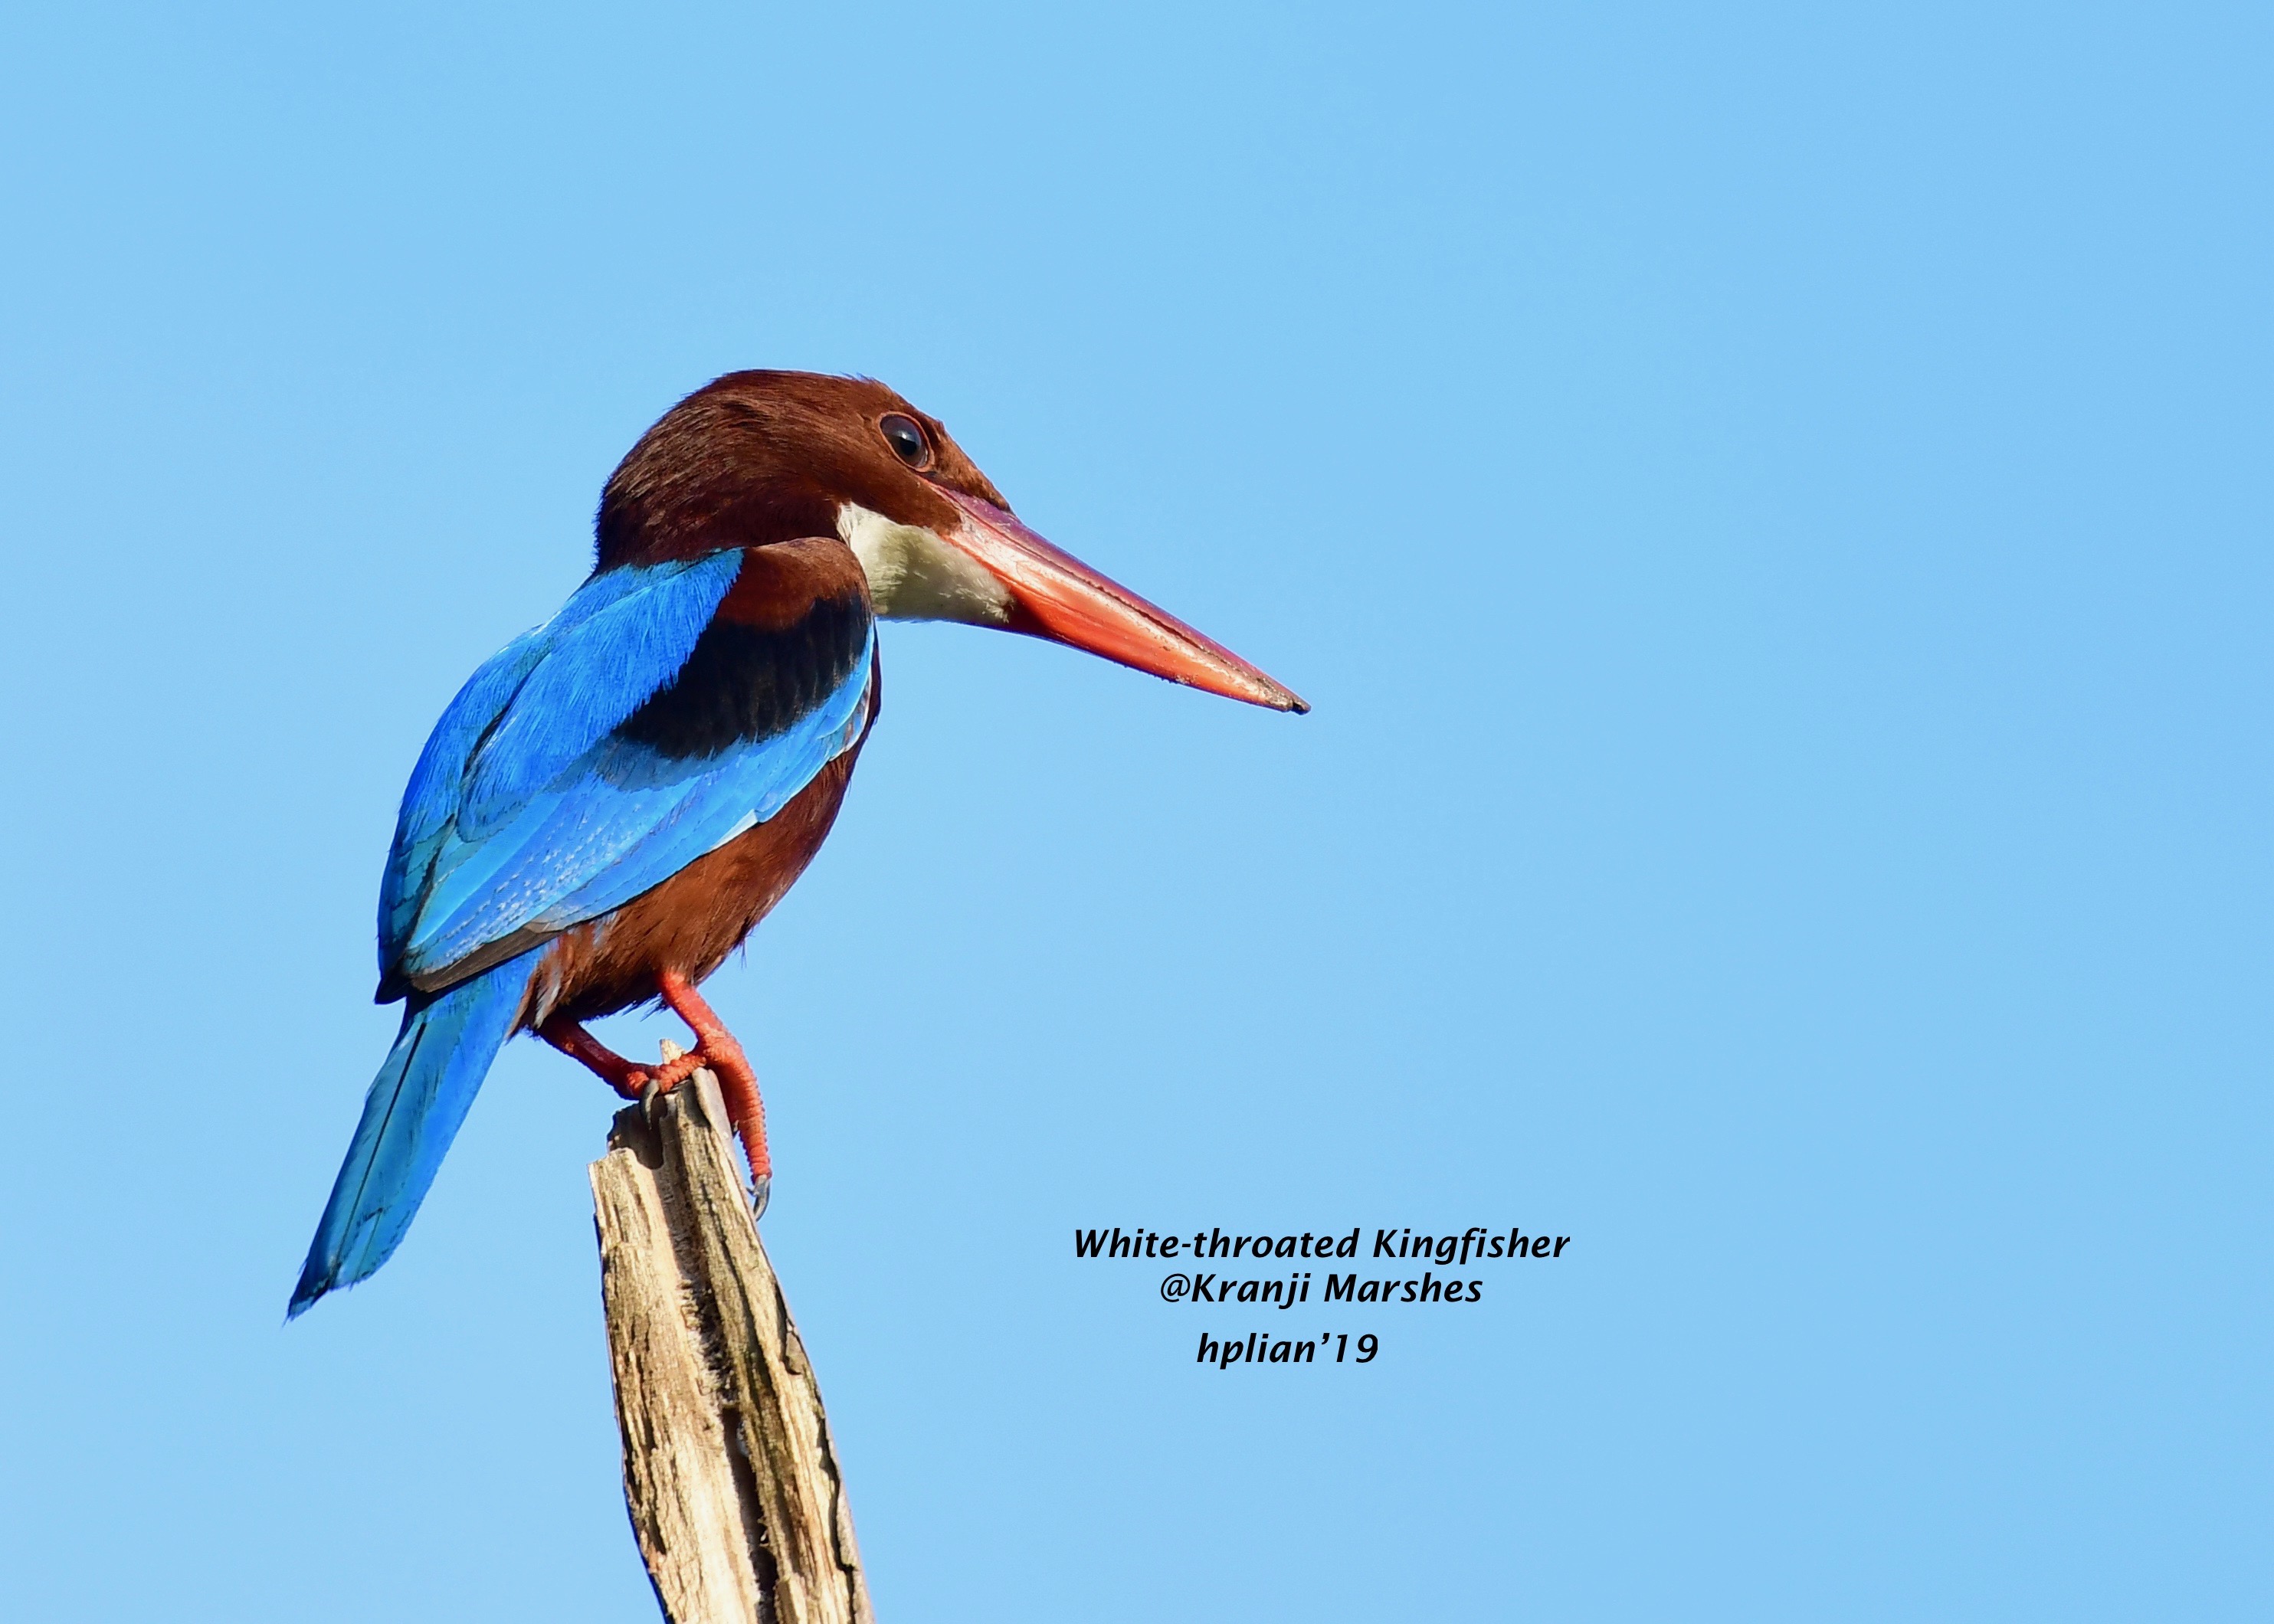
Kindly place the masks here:
<instances>
[{"instance_id":1,"label":"kingfisher's bright blue back and folded wing, without black patch or tail","mask_svg":"<svg viewBox=\"0 0 2274 1624\"><path fill-rule=\"evenodd\" d=\"M712 755L616 732L687 666L730 548L589 580L475 671L412 771L380 887L382 996L605 914L780 812L860 739L873 625L787 728Z\"/></svg>"}]
</instances>

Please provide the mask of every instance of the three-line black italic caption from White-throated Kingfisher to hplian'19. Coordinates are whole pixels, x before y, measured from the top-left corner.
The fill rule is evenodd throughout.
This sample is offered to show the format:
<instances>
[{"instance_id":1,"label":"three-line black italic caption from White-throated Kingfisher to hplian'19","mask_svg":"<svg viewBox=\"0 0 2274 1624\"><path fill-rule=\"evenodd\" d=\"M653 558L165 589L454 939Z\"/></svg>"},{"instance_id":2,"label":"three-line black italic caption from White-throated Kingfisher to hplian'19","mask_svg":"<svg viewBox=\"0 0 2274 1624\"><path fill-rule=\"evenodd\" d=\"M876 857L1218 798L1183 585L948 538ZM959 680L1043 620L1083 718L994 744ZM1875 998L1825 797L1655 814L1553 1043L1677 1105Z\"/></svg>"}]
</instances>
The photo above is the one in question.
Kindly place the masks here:
<instances>
[{"instance_id":1,"label":"three-line black italic caption from White-throated Kingfisher to hplian'19","mask_svg":"<svg viewBox=\"0 0 2274 1624\"><path fill-rule=\"evenodd\" d=\"M1464 1231L1417 1231L1376 1228L1371 1249L1362 1249L1367 1226L1353 1226L1348 1235L1337 1231L1296 1235L1226 1235L1221 1228L1194 1231L1192 1235L1164 1235L1153 1228L1123 1231L1078 1228L1073 1231L1076 1258L1189 1258L1194 1262L1219 1262L1223 1269L1176 1269L1160 1281L1164 1303L1244 1303L1287 1312L1312 1301L1314 1276L1319 1303L1480 1303L1485 1301L1485 1276L1439 1276L1437 1269L1469 1269L1485 1262L1551 1262L1565 1256L1569 1235L1526 1235L1521 1226L1505 1231L1471 1224ZM1262 1274L1235 1274L1237 1265L1278 1262L1294 1258L1312 1267L1292 1267L1285 1276L1276 1269ZM1337 1269L1348 1258L1351 1269ZM1389 1267L1385 1267L1389 1265ZM1396 1265L1424 1265L1421 1274L1408 1274ZM1201 1333L1196 1362L1230 1369L1233 1365L1371 1365L1380 1353L1380 1337L1364 1333L1355 1353L1351 1335L1328 1331L1319 1337L1287 1337L1255 1331L1248 1335Z\"/></svg>"}]
</instances>

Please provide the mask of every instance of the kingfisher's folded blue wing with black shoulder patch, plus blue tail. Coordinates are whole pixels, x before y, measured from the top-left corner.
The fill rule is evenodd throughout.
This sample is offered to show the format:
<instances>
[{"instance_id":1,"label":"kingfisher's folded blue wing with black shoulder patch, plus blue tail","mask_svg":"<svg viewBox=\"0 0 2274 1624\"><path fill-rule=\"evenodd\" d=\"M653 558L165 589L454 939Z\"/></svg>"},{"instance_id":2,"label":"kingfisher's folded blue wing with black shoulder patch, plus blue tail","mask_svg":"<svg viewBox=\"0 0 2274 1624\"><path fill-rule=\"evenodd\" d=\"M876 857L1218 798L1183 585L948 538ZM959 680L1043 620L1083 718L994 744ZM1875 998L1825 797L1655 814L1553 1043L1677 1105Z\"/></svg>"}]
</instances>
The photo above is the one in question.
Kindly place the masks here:
<instances>
[{"instance_id":1,"label":"kingfisher's folded blue wing with black shoulder patch, plus blue tail","mask_svg":"<svg viewBox=\"0 0 2274 1624\"><path fill-rule=\"evenodd\" d=\"M750 644L748 625L719 625L741 566L735 548L596 575L475 671L434 726L380 885L380 996L409 1005L293 1315L402 1240L523 1019L539 944L766 821L860 741L875 653L866 598L810 607L787 644Z\"/></svg>"}]
</instances>

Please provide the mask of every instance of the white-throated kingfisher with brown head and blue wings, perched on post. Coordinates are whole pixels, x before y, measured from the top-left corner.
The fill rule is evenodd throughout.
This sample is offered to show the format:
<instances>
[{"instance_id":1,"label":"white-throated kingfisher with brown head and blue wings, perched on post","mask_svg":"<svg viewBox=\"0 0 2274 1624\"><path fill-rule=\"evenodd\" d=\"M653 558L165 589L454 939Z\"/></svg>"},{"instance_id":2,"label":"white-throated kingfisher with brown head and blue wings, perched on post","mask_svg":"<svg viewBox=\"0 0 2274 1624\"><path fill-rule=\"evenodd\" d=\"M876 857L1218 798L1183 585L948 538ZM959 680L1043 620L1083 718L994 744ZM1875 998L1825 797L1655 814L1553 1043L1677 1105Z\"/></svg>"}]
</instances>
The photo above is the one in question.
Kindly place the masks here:
<instances>
[{"instance_id":1,"label":"white-throated kingfisher with brown head and blue wings, perched on post","mask_svg":"<svg viewBox=\"0 0 2274 1624\"><path fill-rule=\"evenodd\" d=\"M700 985L837 819L882 703L878 621L1021 632L1310 710L1028 530L885 384L739 371L696 389L603 487L584 585L466 680L418 753L377 908L377 1003L402 1026L289 1319L393 1256L516 1033L634 1101L707 1067L764 1210L757 1076ZM587 1030L637 1005L673 1010L694 1046L634 1064Z\"/></svg>"}]
</instances>

